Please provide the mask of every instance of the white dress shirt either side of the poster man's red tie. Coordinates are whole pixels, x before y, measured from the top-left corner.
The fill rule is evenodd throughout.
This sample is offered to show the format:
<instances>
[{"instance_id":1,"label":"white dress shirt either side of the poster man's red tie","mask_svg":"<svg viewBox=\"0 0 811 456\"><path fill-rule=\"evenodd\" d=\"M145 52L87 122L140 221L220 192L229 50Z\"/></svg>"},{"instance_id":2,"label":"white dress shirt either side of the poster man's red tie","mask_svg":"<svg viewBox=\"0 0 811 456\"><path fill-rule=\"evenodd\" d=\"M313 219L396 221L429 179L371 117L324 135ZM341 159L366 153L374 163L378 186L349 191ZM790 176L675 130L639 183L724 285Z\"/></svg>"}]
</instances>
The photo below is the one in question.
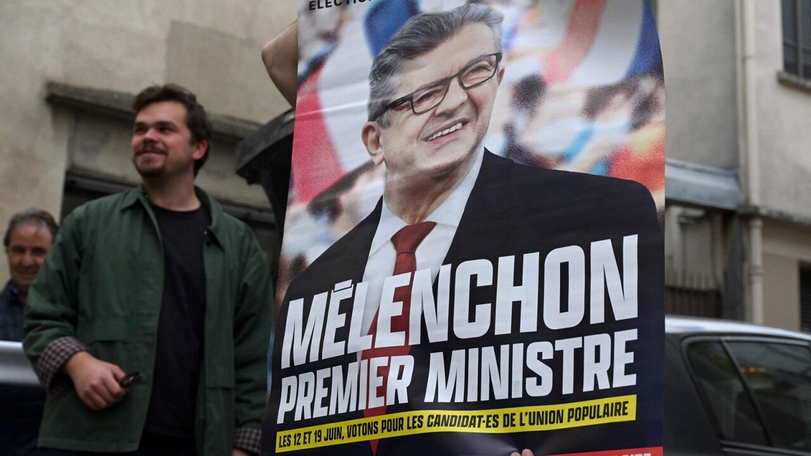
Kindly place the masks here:
<instances>
[{"instance_id":1,"label":"white dress shirt either side of the poster man's red tie","mask_svg":"<svg viewBox=\"0 0 811 456\"><path fill-rule=\"evenodd\" d=\"M436 226L419 244L414 256L417 258L417 270L431 269L431 282L436 280L436 275L440 273L442 260L444 260L445 255L448 254L448 249L451 247L453 236L456 234L461 220L461 214L465 212L465 204L467 204L470 191L473 191L478 171L482 168L483 157L484 148L480 148L473 167L465 179L461 181L459 187L425 219L425 222L436 222ZM375 237L371 240L369 258L363 272L363 282L368 282L369 288L366 307L363 308L362 334L369 333L371 322L375 319L377 308L380 307L383 282L386 277L394 273L394 261L397 259L397 252L394 250L392 236L407 225L408 223L405 223L391 209L388 209L384 196L380 222L377 225Z\"/></svg>"}]
</instances>

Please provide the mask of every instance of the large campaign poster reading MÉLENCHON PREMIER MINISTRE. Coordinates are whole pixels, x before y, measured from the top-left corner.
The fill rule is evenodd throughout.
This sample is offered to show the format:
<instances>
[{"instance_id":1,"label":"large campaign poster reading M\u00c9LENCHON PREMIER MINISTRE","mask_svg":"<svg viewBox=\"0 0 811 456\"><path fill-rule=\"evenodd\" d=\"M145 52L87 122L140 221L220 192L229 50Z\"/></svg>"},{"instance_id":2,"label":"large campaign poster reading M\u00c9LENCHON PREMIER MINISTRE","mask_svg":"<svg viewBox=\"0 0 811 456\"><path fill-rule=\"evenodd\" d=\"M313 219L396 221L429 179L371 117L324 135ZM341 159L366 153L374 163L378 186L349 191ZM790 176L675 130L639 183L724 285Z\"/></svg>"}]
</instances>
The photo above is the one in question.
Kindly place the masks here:
<instances>
[{"instance_id":1,"label":"large campaign poster reading M\u00c9LENCHON PREMIER MINISTRE","mask_svg":"<svg viewBox=\"0 0 811 456\"><path fill-rule=\"evenodd\" d=\"M302 0L263 454L662 454L643 0Z\"/></svg>"}]
</instances>

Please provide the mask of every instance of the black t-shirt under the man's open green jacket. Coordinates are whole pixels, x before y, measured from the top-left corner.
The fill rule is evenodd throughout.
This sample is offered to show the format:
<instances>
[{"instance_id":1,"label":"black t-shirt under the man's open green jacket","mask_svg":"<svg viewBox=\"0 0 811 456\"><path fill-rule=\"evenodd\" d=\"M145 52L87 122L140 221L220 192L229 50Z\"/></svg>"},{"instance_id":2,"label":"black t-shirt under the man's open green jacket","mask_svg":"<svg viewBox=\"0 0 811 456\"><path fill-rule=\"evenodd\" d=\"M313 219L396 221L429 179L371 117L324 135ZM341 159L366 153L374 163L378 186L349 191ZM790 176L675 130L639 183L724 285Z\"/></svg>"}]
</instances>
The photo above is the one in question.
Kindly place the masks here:
<instances>
[{"instance_id":1,"label":"black t-shirt under the man's open green jacket","mask_svg":"<svg viewBox=\"0 0 811 456\"><path fill-rule=\"evenodd\" d=\"M210 214L204 204L186 212L152 204L152 211L161 229L165 277L146 431L193 437L205 320L203 248Z\"/></svg>"}]
</instances>

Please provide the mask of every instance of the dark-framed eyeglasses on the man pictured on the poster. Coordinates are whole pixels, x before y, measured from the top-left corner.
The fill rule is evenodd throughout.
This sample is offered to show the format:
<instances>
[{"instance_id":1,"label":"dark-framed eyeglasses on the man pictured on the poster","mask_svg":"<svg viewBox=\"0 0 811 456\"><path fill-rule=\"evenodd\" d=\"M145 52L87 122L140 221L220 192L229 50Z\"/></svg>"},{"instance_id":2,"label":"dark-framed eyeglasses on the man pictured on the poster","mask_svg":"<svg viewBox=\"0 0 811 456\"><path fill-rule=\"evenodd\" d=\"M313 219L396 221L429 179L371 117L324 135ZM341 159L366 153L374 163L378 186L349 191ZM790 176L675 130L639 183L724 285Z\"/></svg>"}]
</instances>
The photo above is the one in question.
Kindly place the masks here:
<instances>
[{"instance_id":1,"label":"dark-framed eyeglasses on the man pictured on the poster","mask_svg":"<svg viewBox=\"0 0 811 456\"><path fill-rule=\"evenodd\" d=\"M385 114L388 110L406 110L408 106L410 106L414 114L425 114L436 108L436 106L439 106L445 99L445 96L448 95L448 88L450 88L452 80L458 80L459 86L465 90L478 87L486 83L496 74L500 61L500 52L474 58L474 60L471 60L465 67L462 67L457 74L427 84L423 88L419 88L405 95L405 97L397 98L397 100L385 105L372 116L372 119L376 120L380 118L380 116Z\"/></svg>"}]
</instances>

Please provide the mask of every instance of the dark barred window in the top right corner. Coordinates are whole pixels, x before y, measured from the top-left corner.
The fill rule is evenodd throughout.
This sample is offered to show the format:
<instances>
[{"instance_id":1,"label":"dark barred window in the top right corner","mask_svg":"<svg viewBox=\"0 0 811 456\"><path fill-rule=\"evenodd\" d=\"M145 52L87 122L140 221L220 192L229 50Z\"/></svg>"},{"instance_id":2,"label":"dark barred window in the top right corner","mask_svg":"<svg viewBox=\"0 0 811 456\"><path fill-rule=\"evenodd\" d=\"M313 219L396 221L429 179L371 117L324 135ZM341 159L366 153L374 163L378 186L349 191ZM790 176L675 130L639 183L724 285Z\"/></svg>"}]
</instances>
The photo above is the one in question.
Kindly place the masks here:
<instances>
[{"instance_id":1,"label":"dark barred window in the top right corner","mask_svg":"<svg viewBox=\"0 0 811 456\"><path fill-rule=\"evenodd\" d=\"M783 2L783 70L811 80L811 0Z\"/></svg>"}]
</instances>

